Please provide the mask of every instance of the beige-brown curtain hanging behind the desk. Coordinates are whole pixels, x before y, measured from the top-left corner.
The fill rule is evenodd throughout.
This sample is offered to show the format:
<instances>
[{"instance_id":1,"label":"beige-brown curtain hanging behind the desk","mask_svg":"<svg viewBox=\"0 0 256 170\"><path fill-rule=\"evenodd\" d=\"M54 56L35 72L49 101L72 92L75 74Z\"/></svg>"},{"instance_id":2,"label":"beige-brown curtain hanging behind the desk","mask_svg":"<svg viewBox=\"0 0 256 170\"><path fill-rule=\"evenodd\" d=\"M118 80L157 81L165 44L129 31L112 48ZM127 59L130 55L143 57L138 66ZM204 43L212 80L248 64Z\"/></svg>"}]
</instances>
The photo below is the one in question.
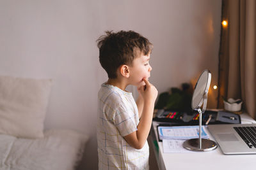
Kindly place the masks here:
<instances>
[{"instance_id":1,"label":"beige-brown curtain hanging behind the desk","mask_svg":"<svg viewBox=\"0 0 256 170\"><path fill-rule=\"evenodd\" d=\"M256 118L256 1L223 0L219 55L218 108L223 99L243 100L243 110Z\"/></svg>"}]
</instances>

